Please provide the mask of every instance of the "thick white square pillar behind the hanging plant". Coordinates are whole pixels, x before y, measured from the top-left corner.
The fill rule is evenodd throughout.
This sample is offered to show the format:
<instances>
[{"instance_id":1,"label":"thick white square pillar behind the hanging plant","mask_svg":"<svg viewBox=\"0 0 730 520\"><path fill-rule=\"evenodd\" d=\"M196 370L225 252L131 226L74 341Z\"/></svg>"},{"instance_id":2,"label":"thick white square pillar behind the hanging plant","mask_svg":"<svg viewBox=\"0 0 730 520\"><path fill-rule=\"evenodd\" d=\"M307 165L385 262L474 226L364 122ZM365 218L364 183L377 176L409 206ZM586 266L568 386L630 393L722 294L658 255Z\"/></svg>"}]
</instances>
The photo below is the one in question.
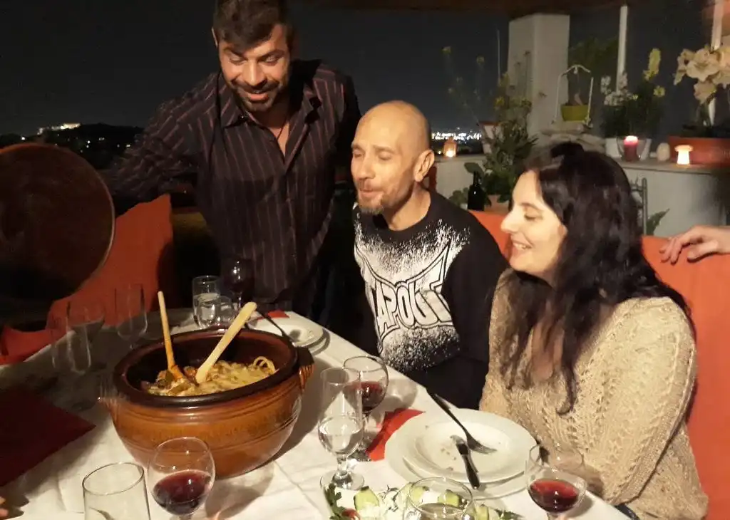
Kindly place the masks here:
<instances>
[{"instance_id":1,"label":"thick white square pillar behind the hanging plant","mask_svg":"<svg viewBox=\"0 0 730 520\"><path fill-rule=\"evenodd\" d=\"M549 128L555 118L556 82L568 68L568 42L570 17L568 15L529 15L510 21L510 38L507 72L510 78L517 74L518 66L528 67L527 95L532 101L528 131L537 135ZM559 100L567 100L567 87L563 85Z\"/></svg>"}]
</instances>

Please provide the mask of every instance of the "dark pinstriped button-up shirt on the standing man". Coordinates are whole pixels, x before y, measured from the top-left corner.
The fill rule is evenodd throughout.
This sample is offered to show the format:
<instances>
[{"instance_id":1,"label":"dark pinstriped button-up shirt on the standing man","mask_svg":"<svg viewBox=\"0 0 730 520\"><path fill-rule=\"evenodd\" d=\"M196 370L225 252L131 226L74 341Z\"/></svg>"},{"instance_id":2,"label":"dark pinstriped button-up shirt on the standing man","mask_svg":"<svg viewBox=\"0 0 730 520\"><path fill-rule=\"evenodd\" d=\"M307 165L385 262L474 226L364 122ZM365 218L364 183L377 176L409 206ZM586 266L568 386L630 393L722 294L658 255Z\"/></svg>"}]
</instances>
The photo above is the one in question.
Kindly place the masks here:
<instances>
[{"instance_id":1,"label":"dark pinstriped button-up shirt on the standing man","mask_svg":"<svg viewBox=\"0 0 730 520\"><path fill-rule=\"evenodd\" d=\"M314 280L336 170L349 170L360 118L351 80L319 61L294 61L290 85L295 109L284 153L218 73L162 104L107 176L121 207L192 182L221 258L250 262L253 299L264 308L311 304L321 289Z\"/></svg>"}]
</instances>

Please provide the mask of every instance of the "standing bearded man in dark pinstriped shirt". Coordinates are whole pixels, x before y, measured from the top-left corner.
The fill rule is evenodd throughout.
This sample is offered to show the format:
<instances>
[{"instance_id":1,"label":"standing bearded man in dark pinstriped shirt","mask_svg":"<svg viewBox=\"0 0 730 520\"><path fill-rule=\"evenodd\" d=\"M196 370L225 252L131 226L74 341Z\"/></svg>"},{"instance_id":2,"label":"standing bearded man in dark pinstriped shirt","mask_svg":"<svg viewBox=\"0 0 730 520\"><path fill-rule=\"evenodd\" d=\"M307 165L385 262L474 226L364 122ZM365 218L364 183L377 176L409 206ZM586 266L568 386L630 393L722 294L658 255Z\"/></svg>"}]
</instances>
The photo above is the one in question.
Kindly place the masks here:
<instances>
[{"instance_id":1,"label":"standing bearded man in dark pinstriped shirt","mask_svg":"<svg viewBox=\"0 0 730 520\"><path fill-rule=\"evenodd\" d=\"M220 72L159 107L110 190L123 210L192 182L221 259L253 271L245 297L318 319L335 176L360 117L352 81L293 58L284 0L216 0L212 34Z\"/></svg>"}]
</instances>

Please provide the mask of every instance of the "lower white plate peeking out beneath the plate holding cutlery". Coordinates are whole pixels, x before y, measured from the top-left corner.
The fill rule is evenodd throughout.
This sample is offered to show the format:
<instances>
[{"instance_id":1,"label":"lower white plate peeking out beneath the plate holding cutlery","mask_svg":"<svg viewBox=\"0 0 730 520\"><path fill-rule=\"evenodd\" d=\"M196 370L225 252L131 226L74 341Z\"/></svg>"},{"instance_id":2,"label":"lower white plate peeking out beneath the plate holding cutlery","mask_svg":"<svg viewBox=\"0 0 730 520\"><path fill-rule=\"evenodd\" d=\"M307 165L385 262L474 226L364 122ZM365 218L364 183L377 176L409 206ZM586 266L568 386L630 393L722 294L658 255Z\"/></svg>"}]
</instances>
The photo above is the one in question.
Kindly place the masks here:
<instances>
[{"instance_id":1,"label":"lower white plate peeking out beneath the plate holding cutlery","mask_svg":"<svg viewBox=\"0 0 730 520\"><path fill-rule=\"evenodd\" d=\"M393 433L391 438L389 438L385 443L385 461L388 462L391 469L409 482L415 482L421 478L439 476L434 473L422 472L410 465L403 458L403 454L407 450L407 446L404 446L404 438L399 434L399 432L400 430ZM469 486L469 489L474 495L475 500L484 502L486 505L490 505L493 508L500 508L501 502L496 501L496 499L507 497L510 494L519 493L525 489L525 486L525 478L522 474L520 474L514 478L507 479L506 481L490 483L483 482L479 489L472 489L471 486Z\"/></svg>"}]
</instances>

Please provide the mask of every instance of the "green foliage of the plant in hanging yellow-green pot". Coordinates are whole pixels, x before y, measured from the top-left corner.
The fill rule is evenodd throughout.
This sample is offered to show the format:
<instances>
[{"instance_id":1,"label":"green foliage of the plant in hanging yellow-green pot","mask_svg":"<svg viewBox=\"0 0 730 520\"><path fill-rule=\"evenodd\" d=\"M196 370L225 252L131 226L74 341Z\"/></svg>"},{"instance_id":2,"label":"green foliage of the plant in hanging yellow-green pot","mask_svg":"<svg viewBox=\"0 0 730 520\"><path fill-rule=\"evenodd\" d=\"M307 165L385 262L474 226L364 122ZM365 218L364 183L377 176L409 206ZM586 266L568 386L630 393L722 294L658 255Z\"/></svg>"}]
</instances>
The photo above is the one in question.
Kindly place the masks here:
<instances>
[{"instance_id":1,"label":"green foliage of the plant in hanging yellow-green pot","mask_svg":"<svg viewBox=\"0 0 730 520\"><path fill-rule=\"evenodd\" d=\"M602 41L598 38L583 40L568 50L568 66L582 65L591 74L568 74L568 105L584 104L590 96L581 96L591 88L591 78L610 74L618 55L618 39Z\"/></svg>"}]
</instances>

